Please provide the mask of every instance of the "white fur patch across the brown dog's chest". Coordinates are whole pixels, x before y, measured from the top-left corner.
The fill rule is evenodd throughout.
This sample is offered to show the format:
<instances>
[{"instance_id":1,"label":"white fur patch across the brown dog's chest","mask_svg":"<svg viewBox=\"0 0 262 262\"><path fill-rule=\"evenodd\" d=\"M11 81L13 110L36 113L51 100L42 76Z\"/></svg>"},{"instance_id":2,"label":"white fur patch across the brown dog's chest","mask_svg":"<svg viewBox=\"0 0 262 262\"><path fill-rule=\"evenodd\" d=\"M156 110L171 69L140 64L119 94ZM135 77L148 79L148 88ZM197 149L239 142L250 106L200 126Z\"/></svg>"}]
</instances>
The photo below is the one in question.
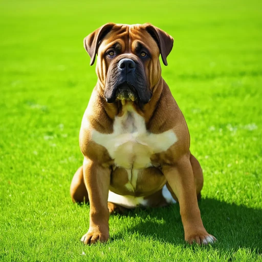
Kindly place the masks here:
<instances>
[{"instance_id":1,"label":"white fur patch across the brown dog's chest","mask_svg":"<svg viewBox=\"0 0 262 262\"><path fill-rule=\"evenodd\" d=\"M112 134L92 130L92 140L104 146L116 166L140 169L151 166L152 154L166 151L177 141L173 130L161 134L149 133L145 120L132 106L126 106L123 116L116 117Z\"/></svg>"}]
</instances>

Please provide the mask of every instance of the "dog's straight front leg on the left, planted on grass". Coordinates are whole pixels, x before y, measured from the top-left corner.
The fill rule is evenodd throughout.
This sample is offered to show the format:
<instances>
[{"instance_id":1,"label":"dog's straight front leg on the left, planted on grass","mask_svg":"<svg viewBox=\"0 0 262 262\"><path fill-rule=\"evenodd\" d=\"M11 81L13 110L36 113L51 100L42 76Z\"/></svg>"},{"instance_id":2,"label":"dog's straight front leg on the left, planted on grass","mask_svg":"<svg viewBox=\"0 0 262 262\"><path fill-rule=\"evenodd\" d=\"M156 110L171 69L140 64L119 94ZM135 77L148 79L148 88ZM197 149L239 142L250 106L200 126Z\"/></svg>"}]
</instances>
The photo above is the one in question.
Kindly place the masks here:
<instances>
[{"instance_id":1,"label":"dog's straight front leg on the left, planted on grass","mask_svg":"<svg viewBox=\"0 0 262 262\"><path fill-rule=\"evenodd\" d=\"M81 238L84 244L97 241L105 242L109 238L109 211L107 207L110 185L110 169L84 158L84 181L90 202L89 230Z\"/></svg>"}]
</instances>

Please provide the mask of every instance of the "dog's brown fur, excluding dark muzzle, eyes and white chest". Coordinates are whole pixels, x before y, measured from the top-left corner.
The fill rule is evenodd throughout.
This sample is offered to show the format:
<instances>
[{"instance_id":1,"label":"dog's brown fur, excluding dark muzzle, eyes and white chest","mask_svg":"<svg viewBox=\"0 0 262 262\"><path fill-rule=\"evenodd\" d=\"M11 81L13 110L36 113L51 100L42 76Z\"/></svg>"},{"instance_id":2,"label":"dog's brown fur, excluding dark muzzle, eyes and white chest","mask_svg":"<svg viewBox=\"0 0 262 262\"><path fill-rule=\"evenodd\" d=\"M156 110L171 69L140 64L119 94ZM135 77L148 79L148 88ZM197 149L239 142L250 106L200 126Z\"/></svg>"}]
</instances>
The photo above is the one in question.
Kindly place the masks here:
<instances>
[{"instance_id":1,"label":"dog's brown fur, excluding dark muzzle, eyes and white chest","mask_svg":"<svg viewBox=\"0 0 262 262\"><path fill-rule=\"evenodd\" d=\"M108 30L110 31L107 32ZM149 34L150 30L158 35L156 38L162 41L162 47L161 41L157 43ZM99 37L105 32L107 34L100 41ZM121 54L111 61L105 57L105 52L116 42L121 48ZM150 59L139 60L136 53L138 42L150 50ZM84 155L83 167L75 173L70 188L73 201L85 199L90 202L90 226L82 241L90 244L109 238L109 212L119 208L116 204L107 203L109 189L121 195L145 196L150 200L151 206L163 206L167 203L161 195L161 188L167 184L174 199L179 201L185 240L189 243L204 243L205 237L210 234L203 226L197 203L197 195L203 187L202 170L189 151L190 137L184 116L161 77L159 55L161 53L164 63L167 64L166 57L173 45L172 37L150 24L107 24L87 36L84 43L90 54L91 64L94 63L97 52L98 81L80 129L79 143ZM136 101L107 103L105 100L104 93L108 88L109 77L107 73L113 70L121 57L132 58L144 68L147 88L152 93L151 100L144 106ZM107 150L92 141L91 136L93 129L111 134L114 118L123 114L126 104L133 106L135 111L144 117L148 132L160 134L171 129L177 136L177 142L166 151L151 155L154 167L139 171L133 193L123 187L128 182L127 171L115 167L114 160L110 158Z\"/></svg>"}]
</instances>

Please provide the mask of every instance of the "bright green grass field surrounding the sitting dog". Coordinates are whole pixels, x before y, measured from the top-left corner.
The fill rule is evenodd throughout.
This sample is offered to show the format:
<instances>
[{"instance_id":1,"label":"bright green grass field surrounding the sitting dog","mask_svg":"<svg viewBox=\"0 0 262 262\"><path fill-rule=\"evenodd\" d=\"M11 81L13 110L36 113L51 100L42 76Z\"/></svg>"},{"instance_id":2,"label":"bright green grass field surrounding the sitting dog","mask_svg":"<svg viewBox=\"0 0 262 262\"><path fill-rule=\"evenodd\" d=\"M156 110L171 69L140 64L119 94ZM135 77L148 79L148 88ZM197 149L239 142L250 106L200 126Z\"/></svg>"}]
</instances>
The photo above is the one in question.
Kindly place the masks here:
<instances>
[{"instance_id":1,"label":"bright green grass field surrounding the sitting dog","mask_svg":"<svg viewBox=\"0 0 262 262\"><path fill-rule=\"evenodd\" d=\"M166 80L204 170L213 246L187 245L179 206L110 217L106 244L80 242L89 205L69 186L96 83L83 38L150 22L174 37ZM1 1L0 261L262 261L261 1Z\"/></svg>"}]
</instances>

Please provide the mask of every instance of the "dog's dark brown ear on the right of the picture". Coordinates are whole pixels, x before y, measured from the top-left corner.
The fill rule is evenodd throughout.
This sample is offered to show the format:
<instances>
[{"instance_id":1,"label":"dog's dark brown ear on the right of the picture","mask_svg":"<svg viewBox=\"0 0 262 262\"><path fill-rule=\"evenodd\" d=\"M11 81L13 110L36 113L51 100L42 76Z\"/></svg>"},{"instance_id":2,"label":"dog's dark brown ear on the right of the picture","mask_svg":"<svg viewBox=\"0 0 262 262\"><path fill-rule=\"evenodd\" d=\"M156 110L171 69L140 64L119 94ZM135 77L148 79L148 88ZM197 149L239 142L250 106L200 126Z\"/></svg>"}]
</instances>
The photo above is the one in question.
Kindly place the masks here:
<instances>
[{"instance_id":1,"label":"dog's dark brown ear on the right of the picture","mask_svg":"<svg viewBox=\"0 0 262 262\"><path fill-rule=\"evenodd\" d=\"M168 35L165 31L151 25L149 23L145 24L146 31L155 39L157 42L162 61L164 65L167 65L166 58L172 50L174 39L172 36Z\"/></svg>"}]
</instances>

